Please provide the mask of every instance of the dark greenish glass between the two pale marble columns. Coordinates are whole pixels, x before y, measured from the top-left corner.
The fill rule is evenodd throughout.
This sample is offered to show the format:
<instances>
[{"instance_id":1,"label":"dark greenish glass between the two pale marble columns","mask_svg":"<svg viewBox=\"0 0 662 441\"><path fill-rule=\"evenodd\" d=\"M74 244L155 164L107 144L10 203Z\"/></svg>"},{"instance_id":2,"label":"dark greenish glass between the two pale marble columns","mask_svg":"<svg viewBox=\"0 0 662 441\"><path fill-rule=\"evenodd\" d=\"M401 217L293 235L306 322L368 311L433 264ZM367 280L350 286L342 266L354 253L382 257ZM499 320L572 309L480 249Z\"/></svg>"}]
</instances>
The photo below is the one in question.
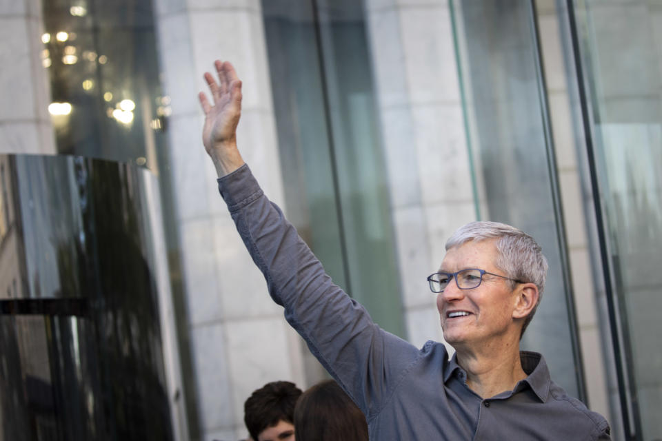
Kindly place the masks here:
<instances>
[{"instance_id":1,"label":"dark greenish glass between the two pale marble columns","mask_svg":"<svg viewBox=\"0 0 662 441\"><path fill-rule=\"evenodd\" d=\"M288 216L334 280L403 336L363 6L263 1Z\"/></svg>"}]
</instances>

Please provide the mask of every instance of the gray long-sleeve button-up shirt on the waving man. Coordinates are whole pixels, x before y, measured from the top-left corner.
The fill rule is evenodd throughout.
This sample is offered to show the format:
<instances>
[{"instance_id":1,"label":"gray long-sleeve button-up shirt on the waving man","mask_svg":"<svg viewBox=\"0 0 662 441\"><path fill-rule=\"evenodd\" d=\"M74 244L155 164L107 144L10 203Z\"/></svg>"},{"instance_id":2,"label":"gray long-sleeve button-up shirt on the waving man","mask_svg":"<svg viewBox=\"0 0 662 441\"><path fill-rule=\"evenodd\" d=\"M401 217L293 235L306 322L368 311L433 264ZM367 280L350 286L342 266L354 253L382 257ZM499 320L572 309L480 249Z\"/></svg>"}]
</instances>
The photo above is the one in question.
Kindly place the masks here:
<instances>
[{"instance_id":1,"label":"gray long-sleeve button-up shirt on the waving man","mask_svg":"<svg viewBox=\"0 0 662 441\"><path fill-rule=\"evenodd\" d=\"M521 353L525 380L483 400L444 345L417 349L389 334L334 285L247 165L218 182L272 298L365 413L371 440L610 439L607 421L555 384L538 353Z\"/></svg>"}]
</instances>

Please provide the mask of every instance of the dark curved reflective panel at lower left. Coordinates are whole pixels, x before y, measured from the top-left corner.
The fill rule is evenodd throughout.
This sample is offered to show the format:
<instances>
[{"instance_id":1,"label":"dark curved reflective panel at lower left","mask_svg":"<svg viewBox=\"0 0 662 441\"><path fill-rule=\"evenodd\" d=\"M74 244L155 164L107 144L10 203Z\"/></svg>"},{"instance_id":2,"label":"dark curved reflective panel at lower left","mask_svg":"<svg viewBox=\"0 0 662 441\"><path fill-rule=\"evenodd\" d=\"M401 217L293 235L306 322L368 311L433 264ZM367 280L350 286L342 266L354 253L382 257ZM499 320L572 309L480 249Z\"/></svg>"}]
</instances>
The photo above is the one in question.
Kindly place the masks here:
<instances>
[{"instance_id":1,"label":"dark curved reflective panel at lower left","mask_svg":"<svg viewBox=\"0 0 662 441\"><path fill-rule=\"evenodd\" d=\"M0 243L10 281L0 292L0 433L171 439L146 196L154 177L68 156L0 164L12 214Z\"/></svg>"}]
</instances>

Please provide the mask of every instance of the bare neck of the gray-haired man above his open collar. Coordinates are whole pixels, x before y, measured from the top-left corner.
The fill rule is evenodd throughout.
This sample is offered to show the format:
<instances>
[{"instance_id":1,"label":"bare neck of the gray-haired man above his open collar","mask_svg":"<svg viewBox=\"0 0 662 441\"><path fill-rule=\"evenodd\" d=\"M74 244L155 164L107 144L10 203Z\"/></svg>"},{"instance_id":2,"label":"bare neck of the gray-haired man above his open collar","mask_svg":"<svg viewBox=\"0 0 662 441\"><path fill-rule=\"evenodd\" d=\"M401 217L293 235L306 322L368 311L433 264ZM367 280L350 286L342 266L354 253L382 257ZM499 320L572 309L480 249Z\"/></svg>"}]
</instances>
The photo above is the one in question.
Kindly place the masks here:
<instances>
[{"instance_id":1,"label":"bare neck of the gray-haired man above his open collar","mask_svg":"<svg viewBox=\"0 0 662 441\"><path fill-rule=\"evenodd\" d=\"M526 378L519 358L519 340L508 345L457 347L457 362L467 372L467 386L481 398L512 391Z\"/></svg>"}]
</instances>

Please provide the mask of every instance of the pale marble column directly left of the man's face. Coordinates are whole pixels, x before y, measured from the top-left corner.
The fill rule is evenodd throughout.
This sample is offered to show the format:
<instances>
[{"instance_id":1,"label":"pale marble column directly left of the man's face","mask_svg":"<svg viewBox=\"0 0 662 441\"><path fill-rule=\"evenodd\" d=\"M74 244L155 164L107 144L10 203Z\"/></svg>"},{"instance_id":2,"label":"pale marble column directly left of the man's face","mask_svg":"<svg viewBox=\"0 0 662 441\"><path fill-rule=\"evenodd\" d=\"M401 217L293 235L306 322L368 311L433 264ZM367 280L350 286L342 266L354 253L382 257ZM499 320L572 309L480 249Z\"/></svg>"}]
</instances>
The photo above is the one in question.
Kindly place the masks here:
<instances>
[{"instance_id":1,"label":"pale marble column directly left of the man's face","mask_svg":"<svg viewBox=\"0 0 662 441\"><path fill-rule=\"evenodd\" d=\"M369 0L368 32L388 165L408 338L443 341L425 278L446 238L475 220L445 0Z\"/></svg>"}]
</instances>

